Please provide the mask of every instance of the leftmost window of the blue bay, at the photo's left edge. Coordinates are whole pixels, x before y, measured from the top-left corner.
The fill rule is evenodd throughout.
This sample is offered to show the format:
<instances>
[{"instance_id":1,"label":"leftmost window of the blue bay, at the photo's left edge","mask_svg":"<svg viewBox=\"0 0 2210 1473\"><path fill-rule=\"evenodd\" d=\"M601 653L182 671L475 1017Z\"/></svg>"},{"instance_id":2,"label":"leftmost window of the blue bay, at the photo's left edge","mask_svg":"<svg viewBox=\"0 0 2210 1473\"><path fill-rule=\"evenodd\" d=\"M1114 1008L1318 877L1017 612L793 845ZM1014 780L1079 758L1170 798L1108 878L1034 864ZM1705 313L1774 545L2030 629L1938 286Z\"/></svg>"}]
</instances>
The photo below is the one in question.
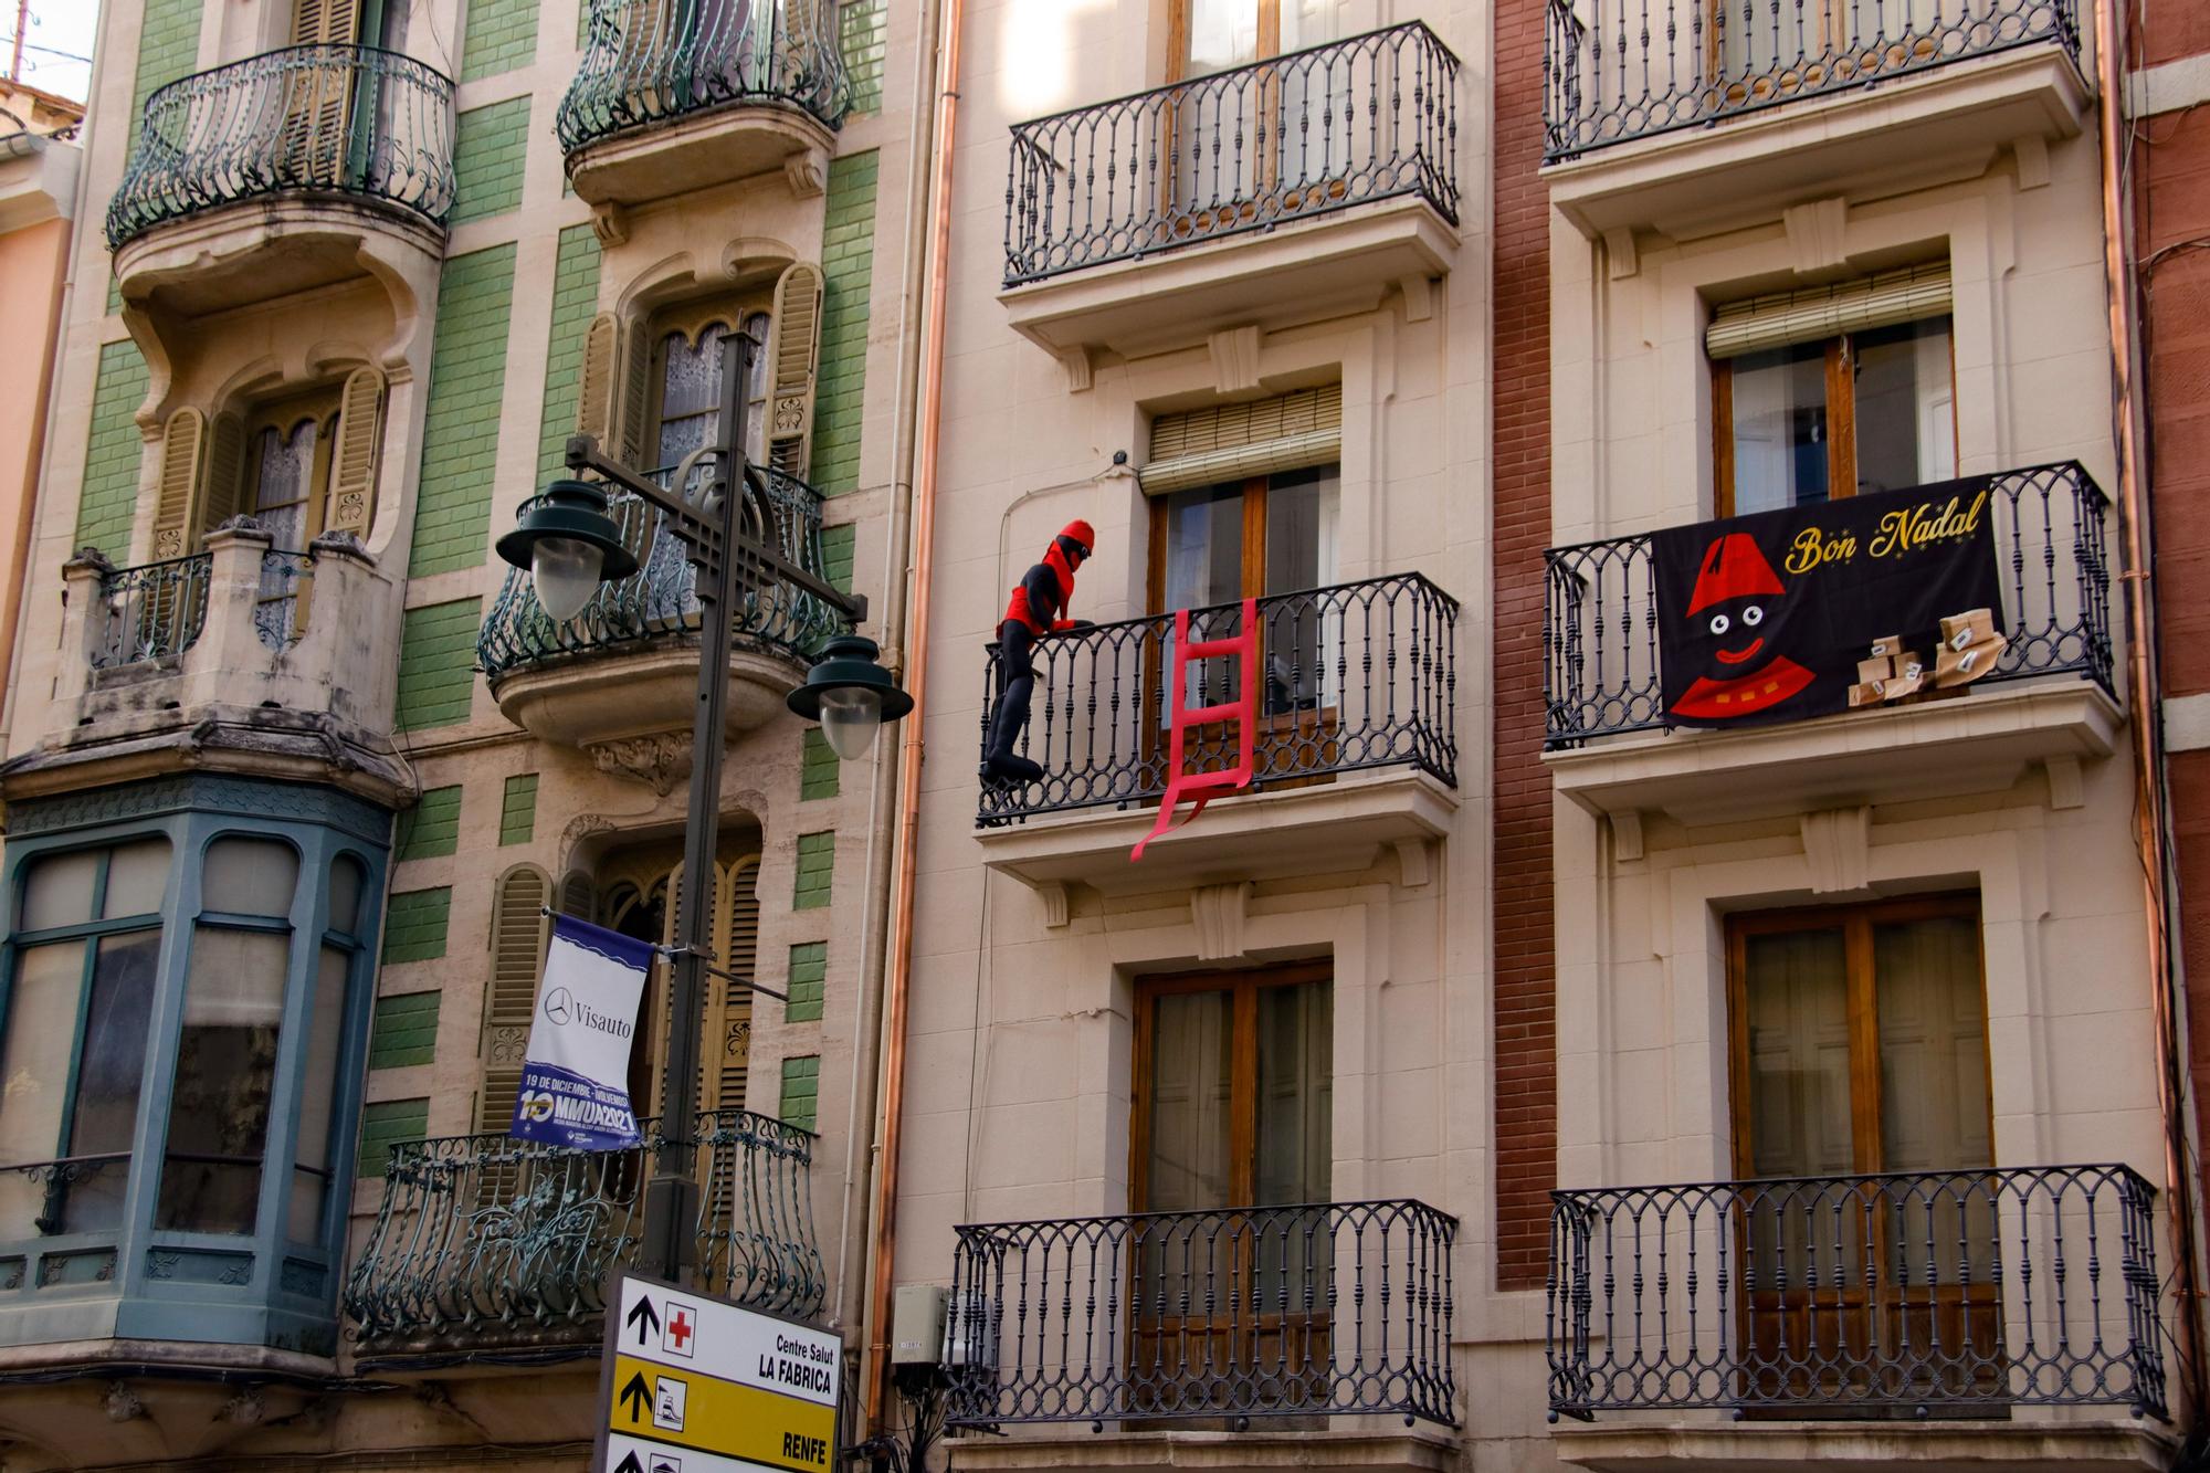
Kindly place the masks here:
<instances>
[{"instance_id":1,"label":"leftmost window of the blue bay, at the photo's left edge","mask_svg":"<svg viewBox=\"0 0 2210 1473\"><path fill-rule=\"evenodd\" d=\"M0 1044L0 1234L122 1225L170 849L31 860Z\"/></svg>"}]
</instances>

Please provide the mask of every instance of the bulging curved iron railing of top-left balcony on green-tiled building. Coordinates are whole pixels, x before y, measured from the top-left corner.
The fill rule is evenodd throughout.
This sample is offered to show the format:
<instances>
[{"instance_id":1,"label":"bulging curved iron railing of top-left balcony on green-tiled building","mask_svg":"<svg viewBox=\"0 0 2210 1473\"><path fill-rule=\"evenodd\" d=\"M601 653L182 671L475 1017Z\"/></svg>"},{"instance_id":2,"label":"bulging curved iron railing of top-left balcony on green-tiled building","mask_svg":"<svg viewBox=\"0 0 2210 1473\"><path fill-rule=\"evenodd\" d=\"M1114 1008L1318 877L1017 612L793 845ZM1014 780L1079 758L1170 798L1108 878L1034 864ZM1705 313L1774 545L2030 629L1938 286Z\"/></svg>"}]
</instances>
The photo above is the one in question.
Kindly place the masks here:
<instances>
[{"instance_id":1,"label":"bulging curved iron railing of top-left balcony on green-tiled building","mask_svg":"<svg viewBox=\"0 0 2210 1473\"><path fill-rule=\"evenodd\" d=\"M290 46L146 100L108 201L108 248L201 210L336 192L442 226L453 208L453 82L376 46Z\"/></svg>"}]
</instances>

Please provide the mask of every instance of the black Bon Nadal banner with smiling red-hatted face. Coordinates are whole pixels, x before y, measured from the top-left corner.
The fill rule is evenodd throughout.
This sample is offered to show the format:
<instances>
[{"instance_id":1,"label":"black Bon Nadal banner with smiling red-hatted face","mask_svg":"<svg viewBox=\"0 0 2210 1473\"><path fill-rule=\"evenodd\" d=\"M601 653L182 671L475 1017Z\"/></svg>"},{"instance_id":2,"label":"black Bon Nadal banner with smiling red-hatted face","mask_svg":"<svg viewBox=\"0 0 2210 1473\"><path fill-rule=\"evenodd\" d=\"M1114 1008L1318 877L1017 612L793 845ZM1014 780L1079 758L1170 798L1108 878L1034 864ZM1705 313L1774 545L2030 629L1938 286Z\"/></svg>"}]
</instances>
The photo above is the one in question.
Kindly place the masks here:
<instances>
[{"instance_id":1,"label":"black Bon Nadal banner with smiling red-hatted face","mask_svg":"<svg viewBox=\"0 0 2210 1473\"><path fill-rule=\"evenodd\" d=\"M1673 725L1929 699L2002 657L1993 478L1651 535Z\"/></svg>"}]
</instances>

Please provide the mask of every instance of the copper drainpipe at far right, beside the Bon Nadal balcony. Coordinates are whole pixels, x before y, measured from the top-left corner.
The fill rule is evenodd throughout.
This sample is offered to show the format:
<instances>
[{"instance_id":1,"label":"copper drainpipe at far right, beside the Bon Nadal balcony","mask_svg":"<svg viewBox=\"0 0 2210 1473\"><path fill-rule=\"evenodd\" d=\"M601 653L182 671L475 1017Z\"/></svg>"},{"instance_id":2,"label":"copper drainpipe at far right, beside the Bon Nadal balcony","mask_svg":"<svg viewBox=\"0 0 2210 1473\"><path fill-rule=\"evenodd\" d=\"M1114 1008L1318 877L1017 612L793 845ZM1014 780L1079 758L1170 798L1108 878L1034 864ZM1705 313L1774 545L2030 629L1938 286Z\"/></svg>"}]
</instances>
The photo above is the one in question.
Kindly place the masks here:
<instances>
[{"instance_id":1,"label":"copper drainpipe at far right, beside the Bon Nadal balcony","mask_svg":"<svg viewBox=\"0 0 2210 1473\"><path fill-rule=\"evenodd\" d=\"M2126 179L2124 88L2117 0L2095 0L2095 122L2102 144L2102 250L2111 314L2111 380L2115 389L2119 582L2126 588L2126 701L2133 706L2133 785L2141 849L2141 905L2148 913L2148 978L2157 1026L2157 1106L2164 1115L2166 1221L2172 1236L2172 1300L2179 1316L2179 1391L2186 1398L2190 1444L2203 1429L2201 1303L2195 1265L2195 1174L2188 1166L2188 1079L2179 1037L2177 971L2172 967L2170 887L2172 856L2164 829L2164 763L2159 752L2153 650L2153 568L2148 562L2148 504L2141 498L2139 436L2135 431L2135 321L2128 217L2119 195Z\"/></svg>"}]
</instances>

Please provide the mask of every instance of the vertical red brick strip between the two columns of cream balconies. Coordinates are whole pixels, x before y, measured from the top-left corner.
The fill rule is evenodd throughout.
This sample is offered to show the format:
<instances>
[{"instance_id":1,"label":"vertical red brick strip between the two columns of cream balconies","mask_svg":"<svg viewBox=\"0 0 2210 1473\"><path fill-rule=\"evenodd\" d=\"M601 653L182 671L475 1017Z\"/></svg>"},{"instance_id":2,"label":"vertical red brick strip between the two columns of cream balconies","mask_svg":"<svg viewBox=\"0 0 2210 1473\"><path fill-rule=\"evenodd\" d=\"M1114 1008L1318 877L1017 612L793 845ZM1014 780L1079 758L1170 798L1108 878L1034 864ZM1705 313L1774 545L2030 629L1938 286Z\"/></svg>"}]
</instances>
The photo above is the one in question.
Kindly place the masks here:
<instances>
[{"instance_id":1,"label":"vertical red brick strip between the two columns of cream balconies","mask_svg":"<svg viewBox=\"0 0 2210 1473\"><path fill-rule=\"evenodd\" d=\"M1496 7L1496 1278L1538 1287L1558 1181L1551 807L1543 754L1549 544L1549 197L1543 0Z\"/></svg>"}]
</instances>

